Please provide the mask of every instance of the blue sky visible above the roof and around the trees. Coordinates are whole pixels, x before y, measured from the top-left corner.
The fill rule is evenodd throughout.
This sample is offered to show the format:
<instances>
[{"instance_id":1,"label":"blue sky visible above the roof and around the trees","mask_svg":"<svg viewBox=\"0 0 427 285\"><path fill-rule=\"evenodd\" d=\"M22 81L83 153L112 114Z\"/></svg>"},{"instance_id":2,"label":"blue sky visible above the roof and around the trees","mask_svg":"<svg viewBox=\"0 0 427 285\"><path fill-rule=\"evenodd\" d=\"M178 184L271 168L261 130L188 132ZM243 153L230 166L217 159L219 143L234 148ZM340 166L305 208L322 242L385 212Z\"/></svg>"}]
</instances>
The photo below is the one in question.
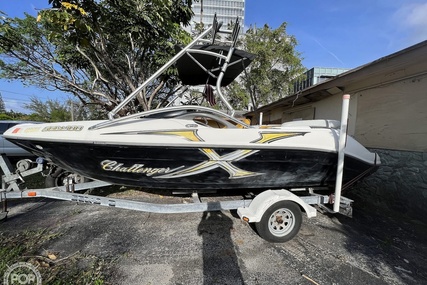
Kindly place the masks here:
<instances>
[{"instance_id":1,"label":"blue sky visible above the roof and around the trees","mask_svg":"<svg viewBox=\"0 0 427 285\"><path fill-rule=\"evenodd\" d=\"M10 17L37 15L48 0L0 0ZM287 23L303 65L356 68L427 40L426 0L246 0L245 27ZM30 97L64 100L67 95L0 80L6 110L26 112Z\"/></svg>"}]
</instances>

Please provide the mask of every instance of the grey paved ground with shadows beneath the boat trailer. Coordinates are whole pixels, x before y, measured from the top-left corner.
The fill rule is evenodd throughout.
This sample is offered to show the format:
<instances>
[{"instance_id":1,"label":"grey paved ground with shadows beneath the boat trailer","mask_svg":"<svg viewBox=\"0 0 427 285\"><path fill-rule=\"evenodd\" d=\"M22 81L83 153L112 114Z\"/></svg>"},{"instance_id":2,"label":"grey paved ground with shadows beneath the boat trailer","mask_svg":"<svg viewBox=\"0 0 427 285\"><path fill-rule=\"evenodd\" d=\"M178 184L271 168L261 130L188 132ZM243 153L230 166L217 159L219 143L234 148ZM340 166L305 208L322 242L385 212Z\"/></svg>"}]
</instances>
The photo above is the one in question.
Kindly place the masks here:
<instances>
[{"instance_id":1,"label":"grey paved ground with shadows beneath the boat trailer","mask_svg":"<svg viewBox=\"0 0 427 285\"><path fill-rule=\"evenodd\" d=\"M40 254L112 261L107 284L427 284L426 226L357 205L352 219L304 217L283 244L262 240L234 211L152 214L44 199L14 202L0 223L3 234L37 229L60 233Z\"/></svg>"}]
</instances>

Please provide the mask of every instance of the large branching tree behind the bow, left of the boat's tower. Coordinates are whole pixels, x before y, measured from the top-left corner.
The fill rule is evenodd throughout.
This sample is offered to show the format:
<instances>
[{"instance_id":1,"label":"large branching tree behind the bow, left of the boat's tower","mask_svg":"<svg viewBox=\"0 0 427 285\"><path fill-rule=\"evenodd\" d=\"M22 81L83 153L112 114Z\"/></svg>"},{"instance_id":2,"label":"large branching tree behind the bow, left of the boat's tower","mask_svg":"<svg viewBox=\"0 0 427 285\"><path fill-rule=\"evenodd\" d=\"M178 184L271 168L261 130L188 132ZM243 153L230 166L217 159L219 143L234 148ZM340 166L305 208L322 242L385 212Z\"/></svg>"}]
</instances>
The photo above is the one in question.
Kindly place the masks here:
<instances>
[{"instance_id":1,"label":"large branching tree behind the bow, left of the boat's tower","mask_svg":"<svg viewBox=\"0 0 427 285\"><path fill-rule=\"evenodd\" d=\"M185 0L49 0L36 18L0 19L0 77L69 92L112 110L190 40ZM173 69L124 112L148 110L176 82Z\"/></svg>"}]
</instances>

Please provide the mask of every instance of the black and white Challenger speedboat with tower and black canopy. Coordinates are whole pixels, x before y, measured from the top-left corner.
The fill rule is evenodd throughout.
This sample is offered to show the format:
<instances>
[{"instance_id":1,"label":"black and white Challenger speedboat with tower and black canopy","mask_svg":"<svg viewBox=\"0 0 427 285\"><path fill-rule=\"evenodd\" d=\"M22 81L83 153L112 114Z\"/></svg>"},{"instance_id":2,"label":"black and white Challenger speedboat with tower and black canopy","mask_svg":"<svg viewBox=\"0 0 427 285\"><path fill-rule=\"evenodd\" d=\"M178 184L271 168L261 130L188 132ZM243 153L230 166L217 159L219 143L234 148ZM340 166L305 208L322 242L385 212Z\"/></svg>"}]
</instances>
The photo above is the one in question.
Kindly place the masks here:
<instances>
[{"instance_id":1,"label":"black and white Challenger speedboat with tower and black canopy","mask_svg":"<svg viewBox=\"0 0 427 285\"><path fill-rule=\"evenodd\" d=\"M144 189L334 188L340 122L309 120L254 126L236 118L221 92L253 55L231 40L217 45L221 24L211 27L141 84L105 120L20 124L4 137L59 167L96 180ZM211 39L206 39L209 37ZM203 43L200 45L200 43ZM227 111L197 105L167 106L118 117L119 111L170 66L184 84L213 87ZM203 75L199 75L203 74ZM344 185L373 172L380 158L348 136Z\"/></svg>"}]
</instances>

